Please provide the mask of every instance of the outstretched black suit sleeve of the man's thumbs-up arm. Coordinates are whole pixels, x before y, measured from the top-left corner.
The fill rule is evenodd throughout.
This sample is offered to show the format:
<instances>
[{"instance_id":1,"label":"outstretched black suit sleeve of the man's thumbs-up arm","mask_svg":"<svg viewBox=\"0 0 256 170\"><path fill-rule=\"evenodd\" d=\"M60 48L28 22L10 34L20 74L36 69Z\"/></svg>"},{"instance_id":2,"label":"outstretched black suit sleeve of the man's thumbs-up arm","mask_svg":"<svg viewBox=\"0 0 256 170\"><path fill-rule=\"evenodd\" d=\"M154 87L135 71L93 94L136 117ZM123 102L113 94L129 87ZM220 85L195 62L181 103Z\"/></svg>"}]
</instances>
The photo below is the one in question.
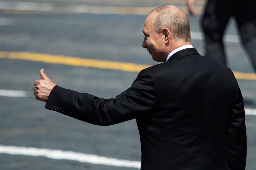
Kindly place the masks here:
<instances>
[{"instance_id":1,"label":"outstretched black suit sleeve of the man's thumbs-up arm","mask_svg":"<svg viewBox=\"0 0 256 170\"><path fill-rule=\"evenodd\" d=\"M103 99L55 86L45 107L94 125L108 126L149 114L154 107L155 87L152 73L144 69L131 87L115 98Z\"/></svg>"}]
</instances>

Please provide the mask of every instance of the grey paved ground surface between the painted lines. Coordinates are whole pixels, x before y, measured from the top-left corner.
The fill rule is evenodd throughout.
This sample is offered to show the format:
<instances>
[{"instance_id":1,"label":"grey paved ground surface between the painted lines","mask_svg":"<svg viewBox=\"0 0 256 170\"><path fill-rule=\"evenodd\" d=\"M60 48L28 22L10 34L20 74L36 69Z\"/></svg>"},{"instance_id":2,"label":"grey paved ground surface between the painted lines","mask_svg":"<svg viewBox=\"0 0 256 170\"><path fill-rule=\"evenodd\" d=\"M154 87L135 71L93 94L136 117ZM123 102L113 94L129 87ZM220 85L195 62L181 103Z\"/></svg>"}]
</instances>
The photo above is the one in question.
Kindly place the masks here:
<instances>
[{"instance_id":1,"label":"grey paved ground surface between the painted lines","mask_svg":"<svg viewBox=\"0 0 256 170\"><path fill-rule=\"evenodd\" d=\"M97 3L106 5L106 2L97 1ZM122 1L117 3L120 5ZM142 6L145 4L147 3L142 3ZM0 51L37 52L157 64L141 47L143 40L141 30L146 15L5 14L0 10L0 21L1 18L8 19L11 23L0 26ZM191 31L200 32L199 19L200 15L189 16ZM237 35L233 22L230 23L227 34ZM202 43L201 40L192 40L192 45L201 54L203 54ZM233 71L253 72L239 43L227 43L227 52L229 67ZM103 98L112 98L121 93L131 85L138 74L0 59L0 89L31 92L30 96L25 98L0 96L1 145L59 149L118 159L140 160L139 134L134 120L100 127L44 109L45 103L36 101L33 96L33 82L40 78L41 68L45 69L51 80L64 88ZM238 80L238 83L245 99L245 107L255 108L255 81ZM247 116L246 124L248 136L246 169L254 170L256 169L256 116ZM0 169L128 170L135 168L0 154Z\"/></svg>"}]
</instances>

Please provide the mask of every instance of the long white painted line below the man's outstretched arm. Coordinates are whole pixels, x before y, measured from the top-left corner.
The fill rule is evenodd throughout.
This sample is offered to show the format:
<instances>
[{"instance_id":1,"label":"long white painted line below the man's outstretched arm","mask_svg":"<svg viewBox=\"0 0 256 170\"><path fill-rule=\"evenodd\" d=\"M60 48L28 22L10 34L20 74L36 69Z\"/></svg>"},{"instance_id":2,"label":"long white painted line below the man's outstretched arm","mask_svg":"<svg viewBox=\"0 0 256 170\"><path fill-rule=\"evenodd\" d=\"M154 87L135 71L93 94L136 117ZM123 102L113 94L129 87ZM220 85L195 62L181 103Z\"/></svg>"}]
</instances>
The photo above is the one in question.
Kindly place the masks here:
<instances>
[{"instance_id":1,"label":"long white painted line below the man's outstretched arm","mask_svg":"<svg viewBox=\"0 0 256 170\"><path fill-rule=\"evenodd\" d=\"M129 161L116 159L111 157L103 157L92 154L83 154L73 151L62 151L54 149L45 148L34 148L34 147L19 147L19 146L4 146L0 145L1 154L10 155L24 155L24 156L45 156L51 159L57 160L72 160L79 161L82 163L91 163L98 165L109 165L115 167L128 167L128 168L138 168L141 167L140 161Z\"/></svg>"}]
</instances>

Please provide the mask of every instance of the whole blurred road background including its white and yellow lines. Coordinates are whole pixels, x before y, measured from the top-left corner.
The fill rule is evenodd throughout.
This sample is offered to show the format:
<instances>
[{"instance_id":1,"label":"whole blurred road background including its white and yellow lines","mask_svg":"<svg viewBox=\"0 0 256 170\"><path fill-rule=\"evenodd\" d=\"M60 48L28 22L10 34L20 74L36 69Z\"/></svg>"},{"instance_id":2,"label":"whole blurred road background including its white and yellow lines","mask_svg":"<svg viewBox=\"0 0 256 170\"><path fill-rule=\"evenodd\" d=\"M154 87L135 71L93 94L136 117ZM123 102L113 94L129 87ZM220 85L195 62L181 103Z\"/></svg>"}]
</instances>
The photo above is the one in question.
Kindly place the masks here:
<instances>
[{"instance_id":1,"label":"whole blurred road background including its white and yellow lines","mask_svg":"<svg viewBox=\"0 0 256 170\"><path fill-rule=\"evenodd\" d=\"M158 64L141 47L142 28L147 14L165 4L187 12L185 0L0 0L0 169L138 169L135 120L101 127L46 110L33 83L44 68L59 86L114 98L142 68ZM204 5L198 0L199 14L187 14L201 55ZM224 40L245 101L246 169L254 170L256 76L233 19Z\"/></svg>"}]
</instances>

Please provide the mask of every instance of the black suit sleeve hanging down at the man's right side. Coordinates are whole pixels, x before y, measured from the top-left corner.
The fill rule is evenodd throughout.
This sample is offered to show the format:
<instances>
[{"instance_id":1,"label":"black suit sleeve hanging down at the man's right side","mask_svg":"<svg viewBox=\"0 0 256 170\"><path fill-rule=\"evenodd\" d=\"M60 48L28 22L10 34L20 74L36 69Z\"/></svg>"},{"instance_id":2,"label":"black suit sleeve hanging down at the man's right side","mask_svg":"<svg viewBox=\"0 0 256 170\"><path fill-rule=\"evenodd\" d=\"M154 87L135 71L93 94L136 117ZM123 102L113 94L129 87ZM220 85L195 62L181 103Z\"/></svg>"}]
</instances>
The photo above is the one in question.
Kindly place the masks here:
<instances>
[{"instance_id":1,"label":"black suit sleeve hanging down at the man's right side","mask_svg":"<svg viewBox=\"0 0 256 170\"><path fill-rule=\"evenodd\" d=\"M230 170L244 170L246 165L245 109L238 85L227 140Z\"/></svg>"}]
</instances>

